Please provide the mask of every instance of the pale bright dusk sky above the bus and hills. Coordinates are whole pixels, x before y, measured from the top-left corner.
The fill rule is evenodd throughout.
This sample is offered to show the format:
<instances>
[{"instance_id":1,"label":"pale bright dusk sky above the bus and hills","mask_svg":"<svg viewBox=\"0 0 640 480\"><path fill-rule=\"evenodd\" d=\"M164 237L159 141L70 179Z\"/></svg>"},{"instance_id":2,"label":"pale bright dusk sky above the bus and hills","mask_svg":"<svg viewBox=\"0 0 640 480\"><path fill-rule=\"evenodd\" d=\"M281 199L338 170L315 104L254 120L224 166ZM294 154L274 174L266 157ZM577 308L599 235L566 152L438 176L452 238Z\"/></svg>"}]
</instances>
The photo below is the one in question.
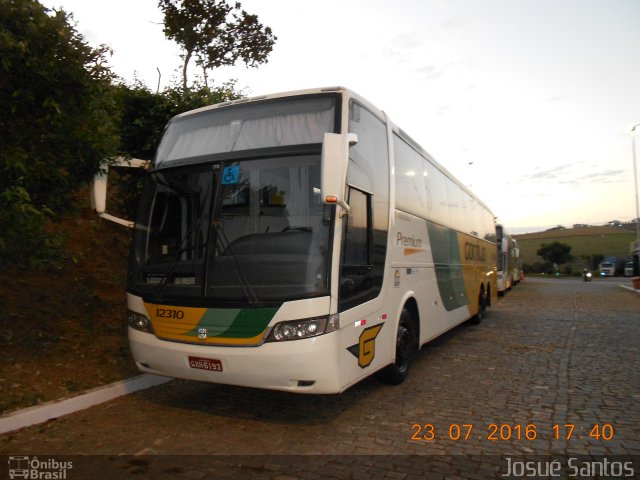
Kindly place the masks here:
<instances>
[{"instance_id":1,"label":"pale bright dusk sky above the bus and hills","mask_svg":"<svg viewBox=\"0 0 640 480\"><path fill-rule=\"evenodd\" d=\"M156 1L42 3L73 13L91 45L109 45L124 80L155 90L159 69L161 88L179 81ZM249 96L350 88L515 233L636 217L640 1L241 3L278 40L267 64L219 69L217 84L236 79Z\"/></svg>"}]
</instances>

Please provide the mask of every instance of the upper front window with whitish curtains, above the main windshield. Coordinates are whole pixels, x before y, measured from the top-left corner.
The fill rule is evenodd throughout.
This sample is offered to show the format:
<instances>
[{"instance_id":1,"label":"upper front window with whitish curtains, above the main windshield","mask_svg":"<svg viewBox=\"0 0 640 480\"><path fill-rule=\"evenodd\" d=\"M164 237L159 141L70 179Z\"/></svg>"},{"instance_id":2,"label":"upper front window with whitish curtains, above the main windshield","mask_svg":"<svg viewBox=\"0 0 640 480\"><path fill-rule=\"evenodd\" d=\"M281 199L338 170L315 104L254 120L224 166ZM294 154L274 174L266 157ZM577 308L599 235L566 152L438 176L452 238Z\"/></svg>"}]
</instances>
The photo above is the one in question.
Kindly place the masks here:
<instances>
[{"instance_id":1,"label":"upper front window with whitish curtains, above the main windshield","mask_svg":"<svg viewBox=\"0 0 640 480\"><path fill-rule=\"evenodd\" d=\"M322 143L325 132L335 131L335 99L284 98L176 117L160 143L155 167L198 163L240 150Z\"/></svg>"}]
</instances>

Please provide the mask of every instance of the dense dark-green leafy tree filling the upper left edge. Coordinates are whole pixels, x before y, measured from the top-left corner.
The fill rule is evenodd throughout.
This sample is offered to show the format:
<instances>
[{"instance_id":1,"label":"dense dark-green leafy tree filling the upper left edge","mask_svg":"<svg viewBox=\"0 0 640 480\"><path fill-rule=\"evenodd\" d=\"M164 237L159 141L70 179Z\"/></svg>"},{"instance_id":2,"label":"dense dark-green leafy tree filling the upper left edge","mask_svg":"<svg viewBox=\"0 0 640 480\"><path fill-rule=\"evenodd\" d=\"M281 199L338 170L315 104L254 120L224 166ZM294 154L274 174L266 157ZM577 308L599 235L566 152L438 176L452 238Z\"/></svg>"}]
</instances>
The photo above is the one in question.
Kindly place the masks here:
<instances>
[{"instance_id":1,"label":"dense dark-green leafy tree filling the upper left edge","mask_svg":"<svg viewBox=\"0 0 640 480\"><path fill-rule=\"evenodd\" d=\"M107 53L64 11L0 0L0 265L44 261L47 219L115 152Z\"/></svg>"}]
</instances>

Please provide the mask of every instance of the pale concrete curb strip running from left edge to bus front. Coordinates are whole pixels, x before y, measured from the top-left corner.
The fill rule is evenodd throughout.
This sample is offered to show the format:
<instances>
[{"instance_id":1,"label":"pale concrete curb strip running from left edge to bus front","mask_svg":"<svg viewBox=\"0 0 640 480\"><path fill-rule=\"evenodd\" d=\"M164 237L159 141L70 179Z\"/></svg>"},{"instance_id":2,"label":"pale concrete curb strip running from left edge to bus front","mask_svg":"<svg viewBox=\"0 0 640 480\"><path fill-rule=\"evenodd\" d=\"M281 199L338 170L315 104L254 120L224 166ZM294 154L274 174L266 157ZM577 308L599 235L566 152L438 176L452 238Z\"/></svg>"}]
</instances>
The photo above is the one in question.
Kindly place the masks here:
<instances>
[{"instance_id":1,"label":"pale concrete curb strip running from left edge to bus front","mask_svg":"<svg viewBox=\"0 0 640 480\"><path fill-rule=\"evenodd\" d=\"M44 423L47 420L69 415L129 393L162 385L171 380L171 378L158 375L139 375L128 380L94 388L77 397L18 410L0 417L0 434Z\"/></svg>"}]
</instances>

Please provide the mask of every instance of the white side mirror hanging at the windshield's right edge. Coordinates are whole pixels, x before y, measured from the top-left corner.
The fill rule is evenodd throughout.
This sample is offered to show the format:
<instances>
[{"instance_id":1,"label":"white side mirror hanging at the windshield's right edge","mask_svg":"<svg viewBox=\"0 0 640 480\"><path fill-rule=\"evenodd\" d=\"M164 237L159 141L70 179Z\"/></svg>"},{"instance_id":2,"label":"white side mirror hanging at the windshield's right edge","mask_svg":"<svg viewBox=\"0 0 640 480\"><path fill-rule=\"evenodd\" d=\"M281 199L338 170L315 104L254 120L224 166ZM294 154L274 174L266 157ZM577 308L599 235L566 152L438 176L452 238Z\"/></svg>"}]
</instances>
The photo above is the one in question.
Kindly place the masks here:
<instances>
[{"instance_id":1,"label":"white side mirror hanging at the windshield's right edge","mask_svg":"<svg viewBox=\"0 0 640 480\"><path fill-rule=\"evenodd\" d=\"M322 142L320 192L322 201L342 207L346 214L351 209L344 198L349 163L349 147L358 143L355 133L325 133Z\"/></svg>"}]
</instances>

